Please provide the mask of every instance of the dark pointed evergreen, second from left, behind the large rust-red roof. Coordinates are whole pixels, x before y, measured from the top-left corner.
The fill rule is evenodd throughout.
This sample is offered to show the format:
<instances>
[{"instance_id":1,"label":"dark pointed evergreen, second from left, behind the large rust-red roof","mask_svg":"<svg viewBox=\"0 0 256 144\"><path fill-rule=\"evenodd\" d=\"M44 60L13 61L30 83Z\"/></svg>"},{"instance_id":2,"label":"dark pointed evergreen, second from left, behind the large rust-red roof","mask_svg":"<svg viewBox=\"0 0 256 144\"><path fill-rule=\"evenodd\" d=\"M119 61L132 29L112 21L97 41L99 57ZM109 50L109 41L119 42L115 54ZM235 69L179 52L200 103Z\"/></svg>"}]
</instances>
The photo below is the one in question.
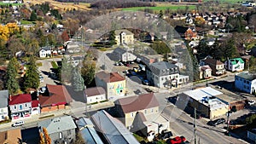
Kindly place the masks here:
<instances>
[{"instance_id":1,"label":"dark pointed evergreen, second from left, behind the large rust-red roof","mask_svg":"<svg viewBox=\"0 0 256 144\"><path fill-rule=\"evenodd\" d=\"M39 73L36 65L36 61L33 56L30 57L29 65L27 67L26 75L25 75L25 83L24 88L34 88L38 89L40 84L39 81Z\"/></svg>"}]
</instances>

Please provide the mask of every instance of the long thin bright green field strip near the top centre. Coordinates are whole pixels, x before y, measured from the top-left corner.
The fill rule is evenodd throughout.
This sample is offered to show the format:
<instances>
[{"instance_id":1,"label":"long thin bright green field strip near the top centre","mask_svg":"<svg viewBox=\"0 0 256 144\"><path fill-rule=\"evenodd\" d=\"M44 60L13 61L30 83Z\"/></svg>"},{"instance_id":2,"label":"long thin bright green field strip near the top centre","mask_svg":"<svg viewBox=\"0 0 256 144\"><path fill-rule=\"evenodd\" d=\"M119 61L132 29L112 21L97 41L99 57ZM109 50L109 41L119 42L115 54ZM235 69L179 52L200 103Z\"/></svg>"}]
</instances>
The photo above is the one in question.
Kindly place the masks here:
<instances>
[{"instance_id":1,"label":"long thin bright green field strip near the top centre","mask_svg":"<svg viewBox=\"0 0 256 144\"><path fill-rule=\"evenodd\" d=\"M160 10L177 10L177 9L186 9L187 6L185 5L170 5L170 6L157 6L157 7L132 7L132 8L125 8L122 10L129 10L129 11L138 11L143 9L152 9L154 11L160 11ZM195 9L195 5L189 5L189 9Z\"/></svg>"}]
</instances>

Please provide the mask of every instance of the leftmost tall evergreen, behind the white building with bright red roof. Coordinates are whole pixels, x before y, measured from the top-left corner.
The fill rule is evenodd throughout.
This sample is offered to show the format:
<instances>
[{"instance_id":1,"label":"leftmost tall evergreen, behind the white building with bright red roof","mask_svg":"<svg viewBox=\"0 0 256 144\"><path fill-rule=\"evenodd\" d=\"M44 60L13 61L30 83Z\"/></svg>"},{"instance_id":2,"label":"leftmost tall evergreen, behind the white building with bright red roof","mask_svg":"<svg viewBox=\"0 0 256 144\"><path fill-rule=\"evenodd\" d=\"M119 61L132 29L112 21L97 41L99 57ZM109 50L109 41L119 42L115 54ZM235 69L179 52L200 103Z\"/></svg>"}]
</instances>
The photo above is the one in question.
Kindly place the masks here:
<instances>
[{"instance_id":1,"label":"leftmost tall evergreen, behind the white building with bright red roof","mask_svg":"<svg viewBox=\"0 0 256 144\"><path fill-rule=\"evenodd\" d=\"M9 64L7 67L7 72L6 72L5 87L6 87L6 89L9 90L10 95L15 95L18 92L18 90L20 89L19 82L16 78L18 75L18 68L15 67L15 66L17 66L16 62L18 62L16 60L16 58L12 58L9 61Z\"/></svg>"}]
</instances>

